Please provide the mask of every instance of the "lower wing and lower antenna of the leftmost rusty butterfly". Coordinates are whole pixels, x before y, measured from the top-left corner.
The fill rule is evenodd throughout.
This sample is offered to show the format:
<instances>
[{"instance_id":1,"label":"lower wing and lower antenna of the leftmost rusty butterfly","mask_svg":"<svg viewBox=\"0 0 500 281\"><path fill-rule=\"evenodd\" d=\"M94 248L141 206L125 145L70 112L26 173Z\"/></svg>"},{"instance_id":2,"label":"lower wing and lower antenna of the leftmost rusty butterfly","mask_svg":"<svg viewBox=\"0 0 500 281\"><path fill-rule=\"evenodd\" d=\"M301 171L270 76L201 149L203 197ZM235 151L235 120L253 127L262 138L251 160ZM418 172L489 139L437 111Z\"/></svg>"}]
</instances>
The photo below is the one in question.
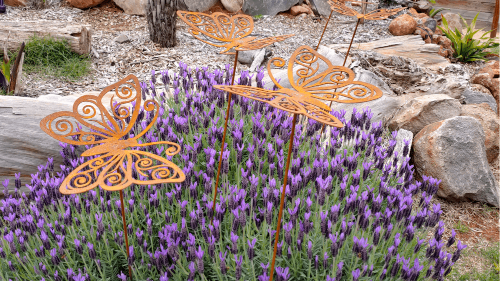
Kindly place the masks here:
<instances>
[{"instance_id":1,"label":"lower wing and lower antenna of the leftmost rusty butterfly","mask_svg":"<svg viewBox=\"0 0 500 281\"><path fill-rule=\"evenodd\" d=\"M168 145L165 154L180 151L176 143L155 142L138 146ZM90 159L76 167L62 182L62 194L82 193L100 186L104 190L122 190L131 184L149 185L178 183L185 180L182 170L174 163L155 154L139 150L121 150Z\"/></svg>"}]
</instances>

